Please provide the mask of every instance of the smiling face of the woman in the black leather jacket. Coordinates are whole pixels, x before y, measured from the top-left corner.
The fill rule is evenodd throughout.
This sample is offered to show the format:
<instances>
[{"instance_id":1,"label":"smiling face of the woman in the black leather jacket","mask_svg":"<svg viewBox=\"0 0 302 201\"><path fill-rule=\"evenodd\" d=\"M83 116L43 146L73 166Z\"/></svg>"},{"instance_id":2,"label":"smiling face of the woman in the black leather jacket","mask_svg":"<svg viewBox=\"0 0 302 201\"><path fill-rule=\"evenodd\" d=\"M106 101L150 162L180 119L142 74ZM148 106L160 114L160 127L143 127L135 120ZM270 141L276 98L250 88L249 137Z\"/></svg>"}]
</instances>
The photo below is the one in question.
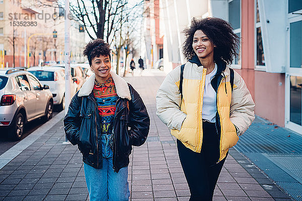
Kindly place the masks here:
<instances>
[{"instance_id":1,"label":"smiling face of the woman in the black leather jacket","mask_svg":"<svg viewBox=\"0 0 302 201\"><path fill-rule=\"evenodd\" d=\"M100 55L92 59L91 70L96 74L98 82L106 81L110 76L111 63L109 56Z\"/></svg>"}]
</instances>

